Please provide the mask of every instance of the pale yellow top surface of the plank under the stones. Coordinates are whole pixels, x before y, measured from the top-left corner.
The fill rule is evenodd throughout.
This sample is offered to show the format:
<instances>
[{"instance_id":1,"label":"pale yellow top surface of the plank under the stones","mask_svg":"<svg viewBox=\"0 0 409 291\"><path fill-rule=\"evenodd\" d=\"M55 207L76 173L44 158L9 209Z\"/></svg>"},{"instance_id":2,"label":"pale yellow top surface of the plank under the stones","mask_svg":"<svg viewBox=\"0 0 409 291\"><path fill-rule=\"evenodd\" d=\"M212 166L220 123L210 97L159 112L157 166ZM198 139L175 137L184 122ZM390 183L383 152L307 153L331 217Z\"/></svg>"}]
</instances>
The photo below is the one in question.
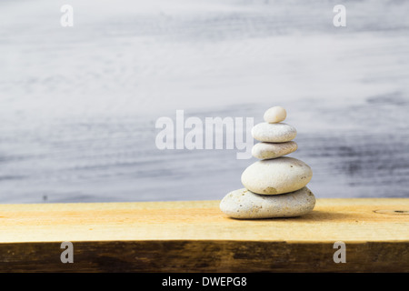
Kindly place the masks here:
<instances>
[{"instance_id":1,"label":"pale yellow top surface of the plank under the stones","mask_svg":"<svg viewBox=\"0 0 409 291\"><path fill-rule=\"evenodd\" d=\"M318 199L296 218L237 220L219 201L0 205L0 244L237 240L408 242L409 199Z\"/></svg>"}]
</instances>

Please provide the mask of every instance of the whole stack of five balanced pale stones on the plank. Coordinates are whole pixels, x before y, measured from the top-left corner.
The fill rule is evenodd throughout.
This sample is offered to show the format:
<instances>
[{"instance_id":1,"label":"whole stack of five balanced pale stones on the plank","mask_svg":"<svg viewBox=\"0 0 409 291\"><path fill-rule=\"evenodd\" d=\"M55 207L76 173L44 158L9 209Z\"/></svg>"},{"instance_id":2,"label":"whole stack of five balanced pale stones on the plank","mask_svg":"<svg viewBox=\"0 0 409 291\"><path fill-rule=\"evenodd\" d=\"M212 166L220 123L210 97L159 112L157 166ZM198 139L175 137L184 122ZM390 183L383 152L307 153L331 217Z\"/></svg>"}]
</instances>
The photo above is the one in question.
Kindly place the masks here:
<instances>
[{"instance_id":1,"label":"whole stack of five balanced pale stones on the plank","mask_svg":"<svg viewBox=\"0 0 409 291\"><path fill-rule=\"evenodd\" d=\"M303 216L313 211L315 196L306 187L313 177L311 167L294 157L292 141L297 131L282 123L285 109L274 106L264 113L264 123L252 129L252 154L261 159L248 166L242 175L245 188L224 196L220 209L234 218L273 218Z\"/></svg>"}]
</instances>

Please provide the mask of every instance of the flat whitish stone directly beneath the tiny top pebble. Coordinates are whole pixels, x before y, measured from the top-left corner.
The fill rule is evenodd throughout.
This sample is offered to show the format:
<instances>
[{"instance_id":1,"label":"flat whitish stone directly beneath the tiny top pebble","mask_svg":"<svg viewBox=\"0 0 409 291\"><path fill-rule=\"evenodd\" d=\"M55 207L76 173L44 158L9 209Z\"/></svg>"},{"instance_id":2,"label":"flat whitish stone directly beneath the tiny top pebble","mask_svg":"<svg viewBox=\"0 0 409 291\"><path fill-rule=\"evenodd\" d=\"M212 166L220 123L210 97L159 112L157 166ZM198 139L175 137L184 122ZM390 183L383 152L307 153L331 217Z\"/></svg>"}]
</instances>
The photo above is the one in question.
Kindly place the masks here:
<instances>
[{"instance_id":1,"label":"flat whitish stone directly beneath the tiny top pebble","mask_svg":"<svg viewBox=\"0 0 409 291\"><path fill-rule=\"evenodd\" d=\"M266 143L285 143L294 139L297 131L294 126L284 123L267 124L266 122L254 125L252 128L253 137Z\"/></svg>"}]
</instances>

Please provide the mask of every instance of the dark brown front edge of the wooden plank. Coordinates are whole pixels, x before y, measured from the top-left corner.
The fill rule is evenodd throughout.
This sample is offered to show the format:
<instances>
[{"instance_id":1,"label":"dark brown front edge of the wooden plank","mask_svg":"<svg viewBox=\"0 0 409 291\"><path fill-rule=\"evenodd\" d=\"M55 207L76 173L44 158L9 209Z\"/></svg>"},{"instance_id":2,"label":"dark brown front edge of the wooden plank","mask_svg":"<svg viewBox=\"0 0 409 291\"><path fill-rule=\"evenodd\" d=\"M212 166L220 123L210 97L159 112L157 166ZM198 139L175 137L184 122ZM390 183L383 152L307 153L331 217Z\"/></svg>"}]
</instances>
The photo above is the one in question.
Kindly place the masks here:
<instances>
[{"instance_id":1,"label":"dark brown front edge of the wooden plank","mask_svg":"<svg viewBox=\"0 0 409 291\"><path fill-rule=\"evenodd\" d=\"M0 244L0 272L409 272L409 242L334 243L231 240L74 242L73 263L61 243Z\"/></svg>"}]
</instances>

